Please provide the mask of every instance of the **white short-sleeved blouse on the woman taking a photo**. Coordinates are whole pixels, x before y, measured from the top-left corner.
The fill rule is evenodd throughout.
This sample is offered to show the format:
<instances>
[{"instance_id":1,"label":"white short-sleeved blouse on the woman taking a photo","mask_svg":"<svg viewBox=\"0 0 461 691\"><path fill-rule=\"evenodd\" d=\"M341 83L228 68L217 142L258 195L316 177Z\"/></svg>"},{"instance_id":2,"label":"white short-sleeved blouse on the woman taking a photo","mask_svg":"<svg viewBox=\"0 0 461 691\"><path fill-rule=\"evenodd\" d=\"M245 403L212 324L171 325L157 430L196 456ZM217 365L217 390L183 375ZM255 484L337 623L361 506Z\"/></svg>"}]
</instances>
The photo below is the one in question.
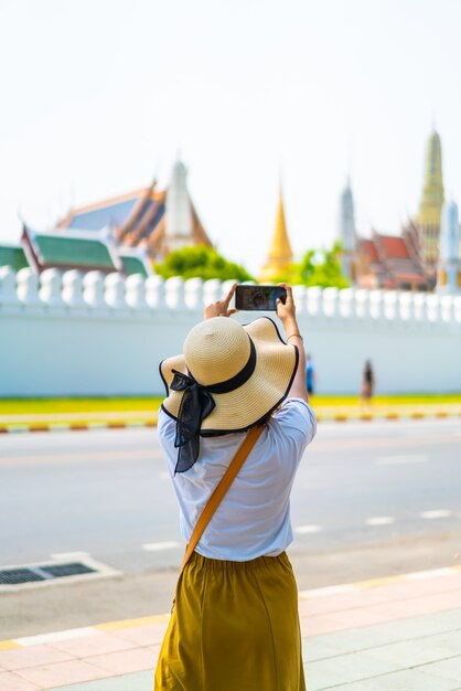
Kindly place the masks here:
<instances>
[{"instance_id":1,"label":"white short-sleeved blouse on the woman taking a photo","mask_svg":"<svg viewBox=\"0 0 461 691\"><path fill-rule=\"evenodd\" d=\"M159 413L159 442L167 457L180 504L186 542L210 496L224 476L246 433L201 437L199 460L190 470L174 467L176 423ZM210 559L245 562L276 556L293 540L290 491L307 445L317 432L315 415L301 398L287 398L267 423L234 482L206 527L197 546Z\"/></svg>"}]
</instances>

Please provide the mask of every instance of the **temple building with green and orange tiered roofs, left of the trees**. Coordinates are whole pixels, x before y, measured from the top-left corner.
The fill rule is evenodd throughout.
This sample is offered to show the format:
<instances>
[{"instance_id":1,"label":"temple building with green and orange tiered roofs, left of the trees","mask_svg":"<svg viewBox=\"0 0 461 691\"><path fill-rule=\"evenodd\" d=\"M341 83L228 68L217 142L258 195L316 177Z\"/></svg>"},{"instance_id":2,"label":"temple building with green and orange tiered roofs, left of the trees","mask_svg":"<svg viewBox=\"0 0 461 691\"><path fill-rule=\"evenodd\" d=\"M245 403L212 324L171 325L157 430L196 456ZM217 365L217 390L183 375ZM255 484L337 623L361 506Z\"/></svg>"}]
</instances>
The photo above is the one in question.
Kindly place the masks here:
<instances>
[{"instance_id":1,"label":"temple building with green and orange tiered roofs, left of the trees","mask_svg":"<svg viewBox=\"0 0 461 691\"><path fill-rule=\"evenodd\" d=\"M167 190L157 181L141 190L73 209L51 232L23 224L21 244L0 245L0 266L36 273L61 270L152 274L152 264L187 245L211 245L176 160Z\"/></svg>"}]
</instances>

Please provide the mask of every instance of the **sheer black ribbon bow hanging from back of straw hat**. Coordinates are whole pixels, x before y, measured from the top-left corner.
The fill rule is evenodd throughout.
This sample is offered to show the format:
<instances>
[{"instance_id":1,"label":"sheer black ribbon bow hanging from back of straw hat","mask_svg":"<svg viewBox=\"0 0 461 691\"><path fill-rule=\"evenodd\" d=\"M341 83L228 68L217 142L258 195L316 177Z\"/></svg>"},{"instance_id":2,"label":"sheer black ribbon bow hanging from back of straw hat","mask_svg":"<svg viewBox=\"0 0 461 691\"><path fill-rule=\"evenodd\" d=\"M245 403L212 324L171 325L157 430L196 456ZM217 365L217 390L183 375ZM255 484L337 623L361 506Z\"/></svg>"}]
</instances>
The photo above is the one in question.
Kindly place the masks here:
<instances>
[{"instance_id":1,"label":"sheer black ribbon bow hanging from back of straw hat","mask_svg":"<svg viewBox=\"0 0 461 691\"><path fill-rule=\"evenodd\" d=\"M216 407L212 394L194 380L193 376L173 370L170 384L173 391L183 391L178 413L176 438L174 448L179 448L174 474L192 468L200 451L200 428L202 421Z\"/></svg>"}]
</instances>

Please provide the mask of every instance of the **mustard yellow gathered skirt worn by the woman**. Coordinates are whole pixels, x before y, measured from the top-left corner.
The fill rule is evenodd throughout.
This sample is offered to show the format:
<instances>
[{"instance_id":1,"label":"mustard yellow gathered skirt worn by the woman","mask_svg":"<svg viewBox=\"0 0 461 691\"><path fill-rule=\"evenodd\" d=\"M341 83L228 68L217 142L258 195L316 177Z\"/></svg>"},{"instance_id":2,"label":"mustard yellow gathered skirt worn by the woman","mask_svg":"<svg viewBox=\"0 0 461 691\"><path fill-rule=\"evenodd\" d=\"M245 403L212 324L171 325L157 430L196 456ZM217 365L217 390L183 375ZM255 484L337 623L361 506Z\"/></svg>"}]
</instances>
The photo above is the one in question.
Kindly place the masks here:
<instances>
[{"instance_id":1,"label":"mustard yellow gathered skirt worn by the woman","mask_svg":"<svg viewBox=\"0 0 461 691\"><path fill-rule=\"evenodd\" d=\"M298 589L287 554L194 552L178 583L154 691L305 691Z\"/></svg>"}]
</instances>

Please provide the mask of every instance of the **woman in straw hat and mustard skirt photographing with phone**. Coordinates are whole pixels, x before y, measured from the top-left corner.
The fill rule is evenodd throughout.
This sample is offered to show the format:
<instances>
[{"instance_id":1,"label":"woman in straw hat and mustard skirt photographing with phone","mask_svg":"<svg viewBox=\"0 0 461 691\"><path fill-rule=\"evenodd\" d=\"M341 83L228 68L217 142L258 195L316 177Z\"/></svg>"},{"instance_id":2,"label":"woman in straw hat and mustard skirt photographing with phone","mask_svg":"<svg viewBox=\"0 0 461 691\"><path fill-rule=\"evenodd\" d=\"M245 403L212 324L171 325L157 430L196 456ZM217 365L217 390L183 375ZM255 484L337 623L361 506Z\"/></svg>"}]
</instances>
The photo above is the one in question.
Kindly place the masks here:
<instances>
[{"instance_id":1,"label":"woman in straw hat and mustard skirt photographing with phone","mask_svg":"<svg viewBox=\"0 0 461 691\"><path fill-rule=\"evenodd\" d=\"M156 691L304 691L298 592L285 552L289 497L315 418L291 288L242 327L227 297L205 309L184 354L160 365L158 433L189 542L248 429L260 436L182 571ZM253 434L253 433L251 433Z\"/></svg>"}]
</instances>

